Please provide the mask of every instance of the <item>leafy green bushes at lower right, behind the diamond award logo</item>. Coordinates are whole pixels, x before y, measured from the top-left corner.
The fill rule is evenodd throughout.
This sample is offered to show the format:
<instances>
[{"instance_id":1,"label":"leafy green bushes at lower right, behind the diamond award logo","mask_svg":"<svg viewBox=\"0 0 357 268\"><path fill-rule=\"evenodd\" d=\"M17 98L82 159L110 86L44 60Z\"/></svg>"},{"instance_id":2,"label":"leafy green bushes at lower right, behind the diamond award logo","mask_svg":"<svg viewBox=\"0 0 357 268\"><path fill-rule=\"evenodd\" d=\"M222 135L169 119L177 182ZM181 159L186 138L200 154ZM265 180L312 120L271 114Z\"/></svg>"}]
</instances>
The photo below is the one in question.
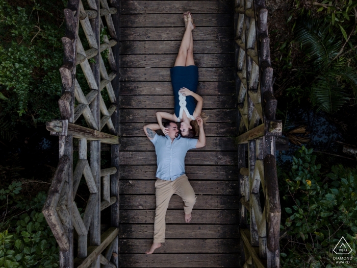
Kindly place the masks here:
<instances>
[{"instance_id":1,"label":"leafy green bushes at lower right, behind the diamond award logo","mask_svg":"<svg viewBox=\"0 0 357 268\"><path fill-rule=\"evenodd\" d=\"M302 147L291 165L279 168L282 203L283 267L355 267L357 265L357 170L333 166L322 175L313 150ZM344 236L354 257L338 266L333 249ZM336 257L336 255L335 255Z\"/></svg>"}]
</instances>

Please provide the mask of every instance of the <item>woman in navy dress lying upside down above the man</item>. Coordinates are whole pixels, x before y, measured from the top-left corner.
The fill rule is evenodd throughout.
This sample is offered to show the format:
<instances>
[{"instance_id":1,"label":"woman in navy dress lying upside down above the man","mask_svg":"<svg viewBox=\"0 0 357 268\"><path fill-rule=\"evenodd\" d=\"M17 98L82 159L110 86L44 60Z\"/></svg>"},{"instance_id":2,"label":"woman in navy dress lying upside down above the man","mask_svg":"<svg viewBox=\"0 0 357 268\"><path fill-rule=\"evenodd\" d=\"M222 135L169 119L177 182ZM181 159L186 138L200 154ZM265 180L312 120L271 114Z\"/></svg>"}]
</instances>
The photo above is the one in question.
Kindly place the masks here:
<instances>
[{"instance_id":1,"label":"woman in navy dress lying upside down above the man","mask_svg":"<svg viewBox=\"0 0 357 268\"><path fill-rule=\"evenodd\" d=\"M198 67L193 60L192 30L195 29L191 12L184 13L186 31L182 38L175 65L170 69L173 95L175 98L174 113L157 112L156 117L162 132L167 135L168 129L162 125L162 119L178 122L181 136L193 138L198 134L197 117L205 122L207 116L201 113L203 100L196 94L198 86ZM195 104L195 100L197 104Z\"/></svg>"}]
</instances>

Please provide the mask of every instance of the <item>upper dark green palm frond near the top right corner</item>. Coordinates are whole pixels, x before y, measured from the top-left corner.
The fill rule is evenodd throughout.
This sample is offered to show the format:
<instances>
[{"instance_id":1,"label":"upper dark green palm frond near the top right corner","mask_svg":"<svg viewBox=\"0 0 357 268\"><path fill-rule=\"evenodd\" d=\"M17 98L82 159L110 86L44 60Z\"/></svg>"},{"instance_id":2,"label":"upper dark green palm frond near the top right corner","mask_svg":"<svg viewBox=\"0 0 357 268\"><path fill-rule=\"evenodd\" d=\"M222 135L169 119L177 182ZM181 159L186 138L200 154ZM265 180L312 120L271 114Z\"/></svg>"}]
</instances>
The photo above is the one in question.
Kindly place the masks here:
<instances>
[{"instance_id":1,"label":"upper dark green palm frond near the top right corner","mask_svg":"<svg viewBox=\"0 0 357 268\"><path fill-rule=\"evenodd\" d=\"M296 27L295 39L302 43L303 50L311 55L312 64L325 68L338 55L342 40L328 31L327 23L312 18L301 18Z\"/></svg>"}]
</instances>

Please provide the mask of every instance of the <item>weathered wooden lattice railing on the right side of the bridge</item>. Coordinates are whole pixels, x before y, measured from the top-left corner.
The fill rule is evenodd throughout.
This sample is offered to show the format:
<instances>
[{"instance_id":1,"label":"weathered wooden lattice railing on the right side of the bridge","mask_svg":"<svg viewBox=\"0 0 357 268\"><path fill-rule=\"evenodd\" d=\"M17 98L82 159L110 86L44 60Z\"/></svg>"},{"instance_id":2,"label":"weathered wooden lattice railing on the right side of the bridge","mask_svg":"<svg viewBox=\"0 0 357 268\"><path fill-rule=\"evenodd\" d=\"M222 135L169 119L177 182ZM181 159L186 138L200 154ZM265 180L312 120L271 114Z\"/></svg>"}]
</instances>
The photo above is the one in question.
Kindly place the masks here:
<instances>
[{"instance_id":1,"label":"weathered wooden lattice railing on the right side of the bridge","mask_svg":"<svg viewBox=\"0 0 357 268\"><path fill-rule=\"evenodd\" d=\"M282 122L275 120L267 18L265 0L235 1L241 267L280 266L275 137Z\"/></svg>"}]
</instances>

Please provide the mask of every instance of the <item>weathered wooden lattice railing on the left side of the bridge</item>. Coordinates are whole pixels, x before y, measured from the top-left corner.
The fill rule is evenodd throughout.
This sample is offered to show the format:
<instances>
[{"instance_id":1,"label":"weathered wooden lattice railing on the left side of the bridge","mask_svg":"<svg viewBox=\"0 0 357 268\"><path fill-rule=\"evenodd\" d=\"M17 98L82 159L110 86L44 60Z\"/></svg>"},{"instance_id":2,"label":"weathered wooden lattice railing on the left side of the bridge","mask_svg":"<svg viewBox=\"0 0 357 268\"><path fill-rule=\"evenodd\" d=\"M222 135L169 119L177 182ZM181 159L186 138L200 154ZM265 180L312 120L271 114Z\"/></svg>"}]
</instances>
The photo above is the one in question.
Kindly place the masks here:
<instances>
[{"instance_id":1,"label":"weathered wooden lattice railing on the left side of the bridge","mask_svg":"<svg viewBox=\"0 0 357 268\"><path fill-rule=\"evenodd\" d=\"M60 160L42 210L60 247L61 267L99 268L101 264L119 267L119 59L116 56L119 55L116 34L119 29L119 1L109 0L109 4L111 7L107 0L88 0L89 10L85 10L80 0L69 0L64 10L66 35L62 38L62 96L58 102L62 118L46 123L50 134L59 136ZM104 43L100 44L103 16L110 36L104 35ZM80 27L89 44L86 51L79 37ZM109 66L105 66L100 55L103 51L107 52ZM90 89L86 95L76 78L77 65L81 66ZM107 69L111 70L109 74ZM104 88L110 100L109 108L101 96ZM81 115L86 127L75 124ZM104 126L109 133L101 132ZM73 139L78 139L79 144L79 160L74 168ZM88 143L90 147L87 147ZM100 169L101 143L111 144L110 168ZM90 159L87 159L88 151ZM90 195L81 217L74 197L83 177ZM100 235L100 211L108 207L111 227ZM73 249L74 239L77 240L77 250ZM77 252L76 256L74 252Z\"/></svg>"}]
</instances>

